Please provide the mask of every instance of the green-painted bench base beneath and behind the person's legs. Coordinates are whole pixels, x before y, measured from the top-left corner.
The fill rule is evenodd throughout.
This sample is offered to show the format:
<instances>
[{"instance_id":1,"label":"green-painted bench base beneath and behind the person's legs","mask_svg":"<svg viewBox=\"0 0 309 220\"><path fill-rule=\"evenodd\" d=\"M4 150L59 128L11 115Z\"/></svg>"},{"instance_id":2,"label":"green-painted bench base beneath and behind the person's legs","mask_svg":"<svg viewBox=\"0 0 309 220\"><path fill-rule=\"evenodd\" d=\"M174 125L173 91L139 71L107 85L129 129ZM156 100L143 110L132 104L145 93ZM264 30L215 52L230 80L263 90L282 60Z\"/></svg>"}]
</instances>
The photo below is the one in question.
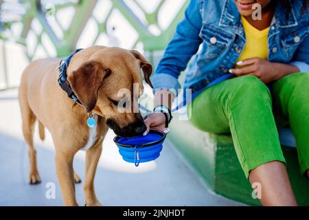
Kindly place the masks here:
<instances>
[{"instance_id":1,"label":"green-painted bench base beneath and behind the person's legs","mask_svg":"<svg viewBox=\"0 0 309 220\"><path fill-rule=\"evenodd\" d=\"M231 135L199 131L187 120L172 120L168 135L203 181L214 192L249 205L260 206L253 199L253 189L244 176ZM295 140L290 129L279 131L282 151L299 205L309 205L309 181L300 173Z\"/></svg>"}]
</instances>

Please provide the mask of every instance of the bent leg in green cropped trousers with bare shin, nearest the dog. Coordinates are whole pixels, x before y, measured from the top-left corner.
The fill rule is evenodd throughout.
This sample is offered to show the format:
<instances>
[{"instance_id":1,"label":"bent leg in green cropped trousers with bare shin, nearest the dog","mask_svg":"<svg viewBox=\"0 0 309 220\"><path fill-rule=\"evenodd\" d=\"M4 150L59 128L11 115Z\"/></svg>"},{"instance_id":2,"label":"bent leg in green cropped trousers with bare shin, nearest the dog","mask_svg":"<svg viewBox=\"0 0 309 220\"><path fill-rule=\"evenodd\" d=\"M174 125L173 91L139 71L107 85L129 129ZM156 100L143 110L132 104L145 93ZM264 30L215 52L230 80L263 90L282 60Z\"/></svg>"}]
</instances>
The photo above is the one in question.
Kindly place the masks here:
<instances>
[{"instance_id":1,"label":"bent leg in green cropped trousers with bare shin, nearest the dog","mask_svg":"<svg viewBox=\"0 0 309 220\"><path fill-rule=\"evenodd\" d=\"M296 204L273 118L271 94L264 83L255 76L226 80L194 99L188 112L198 129L231 131L246 177L262 185L263 205Z\"/></svg>"}]
</instances>

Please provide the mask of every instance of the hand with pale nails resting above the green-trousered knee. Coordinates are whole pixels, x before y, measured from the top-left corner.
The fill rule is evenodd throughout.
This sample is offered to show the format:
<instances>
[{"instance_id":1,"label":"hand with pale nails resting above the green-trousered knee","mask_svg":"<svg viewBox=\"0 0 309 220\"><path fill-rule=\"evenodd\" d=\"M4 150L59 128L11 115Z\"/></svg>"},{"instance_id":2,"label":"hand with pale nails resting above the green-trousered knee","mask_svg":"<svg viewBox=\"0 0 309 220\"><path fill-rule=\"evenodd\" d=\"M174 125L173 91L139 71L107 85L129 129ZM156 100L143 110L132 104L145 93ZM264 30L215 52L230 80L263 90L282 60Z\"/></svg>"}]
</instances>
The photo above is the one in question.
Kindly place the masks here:
<instances>
[{"instance_id":1,"label":"hand with pale nails resting above the green-trousered knee","mask_svg":"<svg viewBox=\"0 0 309 220\"><path fill-rule=\"evenodd\" d=\"M237 63L239 66L244 66L241 69L230 69L229 72L237 76L252 75L260 78L263 83L271 83L283 76L299 72L299 69L293 65L284 63L271 63L262 58L249 58Z\"/></svg>"}]
</instances>

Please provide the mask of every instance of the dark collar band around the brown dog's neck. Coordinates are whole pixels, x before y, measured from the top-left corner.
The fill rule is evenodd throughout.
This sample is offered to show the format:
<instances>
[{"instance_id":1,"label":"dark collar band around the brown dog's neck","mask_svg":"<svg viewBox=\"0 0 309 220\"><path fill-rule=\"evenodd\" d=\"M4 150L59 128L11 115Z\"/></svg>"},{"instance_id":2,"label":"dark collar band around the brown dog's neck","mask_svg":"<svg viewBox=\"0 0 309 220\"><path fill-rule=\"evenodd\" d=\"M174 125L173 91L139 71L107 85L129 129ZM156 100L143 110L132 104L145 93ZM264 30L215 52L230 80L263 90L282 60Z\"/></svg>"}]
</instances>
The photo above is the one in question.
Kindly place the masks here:
<instances>
[{"instance_id":1,"label":"dark collar band around the brown dog's neck","mask_svg":"<svg viewBox=\"0 0 309 220\"><path fill-rule=\"evenodd\" d=\"M67 80L67 67L69 67L69 63L71 61L71 58L77 54L82 49L77 49L73 54L71 54L68 58L65 60L60 61L58 69L59 77L58 77L58 84L60 85L61 89L67 93L67 96L69 98L73 99L74 102L80 104L82 106L82 102L78 100L76 94L74 94L69 81Z\"/></svg>"}]
</instances>

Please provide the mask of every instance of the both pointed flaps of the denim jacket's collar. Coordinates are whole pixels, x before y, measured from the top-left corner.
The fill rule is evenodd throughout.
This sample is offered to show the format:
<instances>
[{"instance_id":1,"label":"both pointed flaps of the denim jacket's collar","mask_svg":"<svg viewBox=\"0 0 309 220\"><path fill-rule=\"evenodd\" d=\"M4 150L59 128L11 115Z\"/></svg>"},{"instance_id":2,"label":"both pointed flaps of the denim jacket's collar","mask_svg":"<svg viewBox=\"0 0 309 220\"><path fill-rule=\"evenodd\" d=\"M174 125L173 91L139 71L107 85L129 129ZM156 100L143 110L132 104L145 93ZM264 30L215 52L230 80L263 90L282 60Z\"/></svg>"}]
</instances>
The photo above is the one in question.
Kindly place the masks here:
<instances>
[{"instance_id":1,"label":"both pointed flaps of the denim jacket's collar","mask_svg":"<svg viewBox=\"0 0 309 220\"><path fill-rule=\"evenodd\" d=\"M290 1L289 1L290 3ZM283 5L282 0L277 0L277 6L275 8L275 23L279 28L290 28L296 26L297 19L293 10L293 5L290 3L291 12L288 18L286 18L286 7ZM233 0L225 0L223 4L222 13L219 21L220 27L240 27L240 14L237 10L236 3Z\"/></svg>"}]
</instances>

